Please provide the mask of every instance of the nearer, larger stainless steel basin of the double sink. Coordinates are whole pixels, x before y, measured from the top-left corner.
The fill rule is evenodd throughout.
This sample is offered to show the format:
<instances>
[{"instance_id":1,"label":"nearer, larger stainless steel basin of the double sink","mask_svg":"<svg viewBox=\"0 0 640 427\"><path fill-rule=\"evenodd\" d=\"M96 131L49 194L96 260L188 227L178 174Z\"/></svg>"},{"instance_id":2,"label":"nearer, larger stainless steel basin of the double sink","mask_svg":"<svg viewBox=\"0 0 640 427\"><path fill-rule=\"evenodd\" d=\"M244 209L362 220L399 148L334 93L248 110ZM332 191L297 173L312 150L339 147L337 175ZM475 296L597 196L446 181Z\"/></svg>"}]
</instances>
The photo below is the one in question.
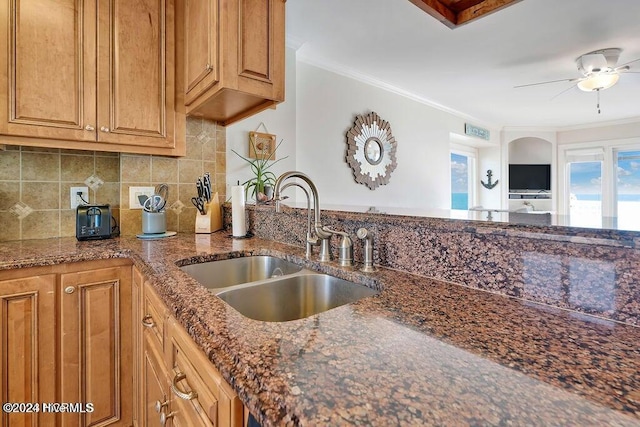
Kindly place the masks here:
<instances>
[{"instance_id":1,"label":"nearer, larger stainless steel basin of the double sink","mask_svg":"<svg viewBox=\"0 0 640 427\"><path fill-rule=\"evenodd\" d=\"M218 292L244 316L264 322L302 319L378 292L326 274L300 274Z\"/></svg>"}]
</instances>

